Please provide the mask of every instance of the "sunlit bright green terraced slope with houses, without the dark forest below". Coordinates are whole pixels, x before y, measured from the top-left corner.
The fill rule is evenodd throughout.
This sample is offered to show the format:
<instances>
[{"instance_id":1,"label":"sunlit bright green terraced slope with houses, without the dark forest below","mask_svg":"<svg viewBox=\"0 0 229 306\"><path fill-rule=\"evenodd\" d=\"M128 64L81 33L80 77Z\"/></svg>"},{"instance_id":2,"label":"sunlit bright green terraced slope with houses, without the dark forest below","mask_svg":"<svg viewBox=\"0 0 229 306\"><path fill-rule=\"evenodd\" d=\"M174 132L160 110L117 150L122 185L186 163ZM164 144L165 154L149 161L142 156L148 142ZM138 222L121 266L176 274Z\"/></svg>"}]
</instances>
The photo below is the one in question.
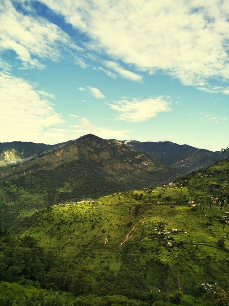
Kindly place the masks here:
<instances>
[{"instance_id":1,"label":"sunlit bright green terraced slope with houses, without the dark forest below","mask_svg":"<svg viewBox=\"0 0 229 306\"><path fill-rule=\"evenodd\" d=\"M81 268L95 276L111 271L120 280L120 275L129 277L131 271L145 292L158 287L191 293L199 283L215 282L227 287L229 224L224 216L228 209L213 206L211 210L203 199L192 210L188 201L198 193L207 197L222 192L228 186L228 171L229 160L224 160L188 175L173 188L131 190L91 204L70 201L35 212L11 231L31 235L44 249L55 251L69 262L70 273ZM217 243L222 238L224 248ZM110 285L110 294L118 288L125 295L115 279ZM129 286L137 290L137 284Z\"/></svg>"}]
</instances>

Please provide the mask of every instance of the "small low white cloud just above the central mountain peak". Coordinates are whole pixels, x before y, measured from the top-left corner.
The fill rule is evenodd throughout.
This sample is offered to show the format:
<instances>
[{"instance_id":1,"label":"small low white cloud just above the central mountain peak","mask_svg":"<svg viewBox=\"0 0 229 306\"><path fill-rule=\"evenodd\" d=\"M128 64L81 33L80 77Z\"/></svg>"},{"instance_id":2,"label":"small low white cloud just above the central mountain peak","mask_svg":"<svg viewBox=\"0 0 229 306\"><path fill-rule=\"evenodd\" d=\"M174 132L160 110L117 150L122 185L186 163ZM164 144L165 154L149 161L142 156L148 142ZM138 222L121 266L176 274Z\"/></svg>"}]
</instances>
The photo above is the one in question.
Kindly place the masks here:
<instances>
[{"instance_id":1,"label":"small low white cloud just above the central mountain peak","mask_svg":"<svg viewBox=\"0 0 229 306\"><path fill-rule=\"evenodd\" d=\"M87 118L80 119L80 125L72 126L76 128L76 133L88 134L92 133L102 138L115 138L122 139L127 136L128 130L113 130L107 127L100 128L95 125L92 125ZM80 130L78 130L80 129Z\"/></svg>"}]
</instances>

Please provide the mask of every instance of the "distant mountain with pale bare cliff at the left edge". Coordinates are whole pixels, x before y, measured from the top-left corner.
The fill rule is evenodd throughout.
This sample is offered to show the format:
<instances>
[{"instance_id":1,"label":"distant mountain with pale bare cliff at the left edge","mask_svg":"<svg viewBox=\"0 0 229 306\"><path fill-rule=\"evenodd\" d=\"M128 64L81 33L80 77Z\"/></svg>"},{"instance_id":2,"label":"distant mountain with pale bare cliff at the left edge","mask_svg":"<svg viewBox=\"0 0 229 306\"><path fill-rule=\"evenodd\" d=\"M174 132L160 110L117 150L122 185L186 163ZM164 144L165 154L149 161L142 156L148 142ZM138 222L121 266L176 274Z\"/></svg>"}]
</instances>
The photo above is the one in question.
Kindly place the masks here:
<instances>
[{"instance_id":1,"label":"distant mountain with pale bare cliff at the left edge","mask_svg":"<svg viewBox=\"0 0 229 306\"><path fill-rule=\"evenodd\" d=\"M0 167L20 163L23 160L38 156L41 152L52 149L54 146L34 142L1 142Z\"/></svg>"}]
</instances>

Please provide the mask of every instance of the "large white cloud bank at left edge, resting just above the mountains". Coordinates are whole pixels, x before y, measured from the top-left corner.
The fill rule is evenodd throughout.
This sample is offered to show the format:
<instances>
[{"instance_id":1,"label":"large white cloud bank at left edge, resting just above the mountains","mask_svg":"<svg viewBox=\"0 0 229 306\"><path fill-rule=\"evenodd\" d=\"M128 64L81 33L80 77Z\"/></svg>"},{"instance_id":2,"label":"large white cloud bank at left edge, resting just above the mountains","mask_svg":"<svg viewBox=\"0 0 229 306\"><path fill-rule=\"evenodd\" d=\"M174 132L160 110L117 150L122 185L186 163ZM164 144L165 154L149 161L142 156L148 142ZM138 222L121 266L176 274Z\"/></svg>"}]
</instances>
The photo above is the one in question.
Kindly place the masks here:
<instances>
[{"instance_id":1,"label":"large white cloud bank at left edge, resting just above the mountains","mask_svg":"<svg viewBox=\"0 0 229 306\"><path fill-rule=\"evenodd\" d=\"M50 132L49 137L46 137L46 129L62 122L50 102L41 97L33 85L0 72L1 142L50 142L54 135Z\"/></svg>"}]
</instances>

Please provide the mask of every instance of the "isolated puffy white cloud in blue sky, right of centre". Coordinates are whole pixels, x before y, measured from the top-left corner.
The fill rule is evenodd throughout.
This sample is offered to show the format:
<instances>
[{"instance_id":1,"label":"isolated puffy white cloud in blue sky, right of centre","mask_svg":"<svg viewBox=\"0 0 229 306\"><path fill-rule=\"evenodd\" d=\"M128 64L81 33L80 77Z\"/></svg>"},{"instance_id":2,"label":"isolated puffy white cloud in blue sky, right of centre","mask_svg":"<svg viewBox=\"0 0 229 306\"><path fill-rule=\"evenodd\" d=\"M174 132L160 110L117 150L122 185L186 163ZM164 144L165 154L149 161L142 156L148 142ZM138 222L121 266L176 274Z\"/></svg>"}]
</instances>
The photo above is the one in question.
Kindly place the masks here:
<instances>
[{"instance_id":1,"label":"isolated puffy white cloud in blue sky, right of centre","mask_svg":"<svg viewBox=\"0 0 229 306\"><path fill-rule=\"evenodd\" d=\"M115 104L109 104L109 106L119 112L119 115L116 117L118 120L140 122L157 116L159 112L171 110L169 107L170 103L162 98L149 98L145 100L134 98L132 101L122 99L115 102Z\"/></svg>"}]
</instances>

